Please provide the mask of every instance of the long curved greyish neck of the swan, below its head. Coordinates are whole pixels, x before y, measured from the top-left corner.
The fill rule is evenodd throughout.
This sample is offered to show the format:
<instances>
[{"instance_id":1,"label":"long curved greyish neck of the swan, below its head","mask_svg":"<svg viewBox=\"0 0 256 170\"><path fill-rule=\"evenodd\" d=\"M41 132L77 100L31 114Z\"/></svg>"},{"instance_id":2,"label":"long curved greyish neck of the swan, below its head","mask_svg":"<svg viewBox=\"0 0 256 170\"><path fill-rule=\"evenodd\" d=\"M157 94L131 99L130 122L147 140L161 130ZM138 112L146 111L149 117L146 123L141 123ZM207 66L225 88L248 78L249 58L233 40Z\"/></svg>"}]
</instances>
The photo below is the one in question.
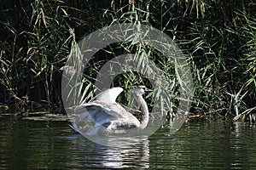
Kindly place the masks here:
<instances>
[{"instance_id":1,"label":"long curved greyish neck of the swan, below its head","mask_svg":"<svg viewBox=\"0 0 256 170\"><path fill-rule=\"evenodd\" d=\"M140 127L141 129L147 127L148 125L148 106L147 106L147 103L146 101L143 99L143 96L142 95L137 95L135 94L136 96L136 100L137 100L137 103L139 105L139 108L140 110L142 111L142 119L141 119L141 123L140 123Z\"/></svg>"}]
</instances>

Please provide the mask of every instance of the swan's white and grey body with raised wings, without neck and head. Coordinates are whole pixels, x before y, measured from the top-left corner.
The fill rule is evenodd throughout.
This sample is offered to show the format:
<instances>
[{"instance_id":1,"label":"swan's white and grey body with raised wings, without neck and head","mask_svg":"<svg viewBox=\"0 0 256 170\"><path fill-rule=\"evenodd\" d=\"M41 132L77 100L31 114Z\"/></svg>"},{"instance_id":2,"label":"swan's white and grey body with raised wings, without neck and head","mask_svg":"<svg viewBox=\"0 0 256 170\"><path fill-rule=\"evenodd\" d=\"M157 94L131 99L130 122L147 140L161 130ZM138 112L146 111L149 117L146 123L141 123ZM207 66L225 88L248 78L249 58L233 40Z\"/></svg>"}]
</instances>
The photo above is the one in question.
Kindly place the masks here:
<instances>
[{"instance_id":1,"label":"swan's white and grey body with raised wings, without neck and head","mask_svg":"<svg viewBox=\"0 0 256 170\"><path fill-rule=\"evenodd\" d=\"M110 88L90 99L89 103L77 106L75 114L79 117L74 122L77 131L83 128L79 125L84 122L95 122L95 125L86 132L89 135L125 133L126 130L139 127L140 122L137 118L115 102L122 91L123 88Z\"/></svg>"}]
</instances>

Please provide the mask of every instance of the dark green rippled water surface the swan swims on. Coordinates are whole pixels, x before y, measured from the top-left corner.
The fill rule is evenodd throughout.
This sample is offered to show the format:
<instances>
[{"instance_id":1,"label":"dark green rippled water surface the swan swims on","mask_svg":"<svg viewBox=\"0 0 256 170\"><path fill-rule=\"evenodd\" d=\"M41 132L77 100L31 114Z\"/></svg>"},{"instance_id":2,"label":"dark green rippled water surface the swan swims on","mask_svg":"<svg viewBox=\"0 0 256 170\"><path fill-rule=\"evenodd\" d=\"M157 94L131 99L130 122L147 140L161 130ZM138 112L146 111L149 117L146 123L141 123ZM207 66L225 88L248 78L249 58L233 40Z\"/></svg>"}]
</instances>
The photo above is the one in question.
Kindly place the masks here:
<instances>
[{"instance_id":1,"label":"dark green rippled water surface the swan swims on","mask_svg":"<svg viewBox=\"0 0 256 170\"><path fill-rule=\"evenodd\" d=\"M116 147L92 143L67 125L1 116L0 169L256 169L252 124L189 122L173 135L161 128Z\"/></svg>"}]
</instances>

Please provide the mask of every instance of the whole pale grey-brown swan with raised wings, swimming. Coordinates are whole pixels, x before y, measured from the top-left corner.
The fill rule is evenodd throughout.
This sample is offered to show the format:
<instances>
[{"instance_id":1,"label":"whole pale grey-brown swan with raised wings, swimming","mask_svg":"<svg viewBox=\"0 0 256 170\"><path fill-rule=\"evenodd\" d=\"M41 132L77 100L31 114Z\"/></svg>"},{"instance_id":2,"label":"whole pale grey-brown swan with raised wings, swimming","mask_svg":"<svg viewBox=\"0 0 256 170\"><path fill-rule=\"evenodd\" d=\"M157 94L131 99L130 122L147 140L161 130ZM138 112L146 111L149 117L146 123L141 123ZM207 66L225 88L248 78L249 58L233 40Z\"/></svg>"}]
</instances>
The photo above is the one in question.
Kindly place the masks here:
<instances>
[{"instance_id":1,"label":"whole pale grey-brown swan with raised wings, swimming","mask_svg":"<svg viewBox=\"0 0 256 170\"><path fill-rule=\"evenodd\" d=\"M145 86L136 86L133 90L140 111L141 121L126 111L124 107L115 102L115 99L123 91L123 88L110 88L101 94L96 95L89 103L79 105L75 108L75 114L79 115L73 122L73 128L80 133L87 135L105 133L127 133L131 129L143 129L148 125L148 106L143 99L145 92L151 92ZM95 122L85 132L84 122Z\"/></svg>"}]
</instances>

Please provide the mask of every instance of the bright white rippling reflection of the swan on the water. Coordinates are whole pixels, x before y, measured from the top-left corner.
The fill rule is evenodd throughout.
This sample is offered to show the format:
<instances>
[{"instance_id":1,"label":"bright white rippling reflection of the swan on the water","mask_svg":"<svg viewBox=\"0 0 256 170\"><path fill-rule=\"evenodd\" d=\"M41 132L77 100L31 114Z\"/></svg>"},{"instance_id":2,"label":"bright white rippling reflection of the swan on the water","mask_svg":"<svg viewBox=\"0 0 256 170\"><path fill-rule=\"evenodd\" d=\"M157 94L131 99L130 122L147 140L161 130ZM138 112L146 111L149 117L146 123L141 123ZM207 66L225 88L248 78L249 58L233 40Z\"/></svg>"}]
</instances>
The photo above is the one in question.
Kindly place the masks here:
<instances>
[{"instance_id":1,"label":"bright white rippling reflection of the swan on the water","mask_svg":"<svg viewBox=\"0 0 256 170\"><path fill-rule=\"evenodd\" d=\"M81 136L73 140L73 145L84 154L84 158L79 160L84 161L84 167L91 167L92 161L95 167L149 167L147 138L109 138L108 142L116 144L116 147L92 143Z\"/></svg>"}]
</instances>

